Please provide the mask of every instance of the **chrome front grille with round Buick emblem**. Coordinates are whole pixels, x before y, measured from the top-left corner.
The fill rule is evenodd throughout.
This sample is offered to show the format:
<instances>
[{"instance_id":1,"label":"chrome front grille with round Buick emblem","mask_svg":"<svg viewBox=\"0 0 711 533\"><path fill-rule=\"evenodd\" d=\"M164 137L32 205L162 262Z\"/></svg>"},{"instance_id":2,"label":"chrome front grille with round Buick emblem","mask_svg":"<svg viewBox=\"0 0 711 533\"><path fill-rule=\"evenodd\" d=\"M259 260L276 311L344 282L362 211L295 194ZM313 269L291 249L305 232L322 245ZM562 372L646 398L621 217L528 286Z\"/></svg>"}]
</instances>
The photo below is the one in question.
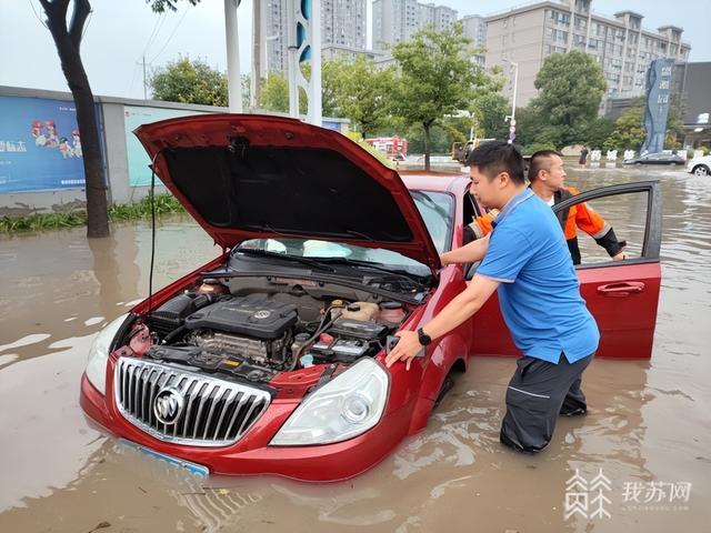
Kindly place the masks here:
<instances>
[{"instance_id":1,"label":"chrome front grille with round Buick emblem","mask_svg":"<svg viewBox=\"0 0 711 533\"><path fill-rule=\"evenodd\" d=\"M267 411L268 392L133 358L120 358L113 395L126 420L158 440L193 446L237 442Z\"/></svg>"}]
</instances>

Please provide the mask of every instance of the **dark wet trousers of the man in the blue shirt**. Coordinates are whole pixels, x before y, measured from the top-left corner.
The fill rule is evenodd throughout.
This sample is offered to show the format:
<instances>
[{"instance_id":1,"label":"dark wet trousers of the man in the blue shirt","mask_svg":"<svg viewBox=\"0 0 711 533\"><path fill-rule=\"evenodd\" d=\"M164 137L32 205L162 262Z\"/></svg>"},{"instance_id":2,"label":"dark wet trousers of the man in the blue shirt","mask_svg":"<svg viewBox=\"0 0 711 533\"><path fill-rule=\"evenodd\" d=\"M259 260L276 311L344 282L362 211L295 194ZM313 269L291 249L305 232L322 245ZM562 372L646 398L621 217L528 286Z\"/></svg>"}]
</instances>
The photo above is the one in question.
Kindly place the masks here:
<instances>
[{"instance_id":1,"label":"dark wet trousers of the man in the blue shirt","mask_svg":"<svg viewBox=\"0 0 711 533\"><path fill-rule=\"evenodd\" d=\"M563 354L558 364L519 359L507 390L501 442L519 452L540 452L551 441L559 414L583 414L588 405L580 378L593 355L572 364Z\"/></svg>"}]
</instances>

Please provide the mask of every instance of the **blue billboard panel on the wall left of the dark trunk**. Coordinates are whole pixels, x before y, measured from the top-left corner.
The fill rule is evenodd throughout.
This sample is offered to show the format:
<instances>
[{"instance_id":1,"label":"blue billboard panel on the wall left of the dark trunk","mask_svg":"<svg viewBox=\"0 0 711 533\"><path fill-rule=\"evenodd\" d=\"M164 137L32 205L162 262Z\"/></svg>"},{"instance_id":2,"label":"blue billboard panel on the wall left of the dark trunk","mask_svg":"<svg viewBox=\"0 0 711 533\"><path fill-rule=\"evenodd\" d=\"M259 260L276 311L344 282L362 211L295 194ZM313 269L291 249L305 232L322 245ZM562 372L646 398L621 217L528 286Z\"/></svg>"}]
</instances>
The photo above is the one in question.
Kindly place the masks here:
<instances>
[{"instance_id":1,"label":"blue billboard panel on the wall left of the dark trunk","mask_svg":"<svg viewBox=\"0 0 711 533\"><path fill-rule=\"evenodd\" d=\"M0 97L0 194L83 188L74 103Z\"/></svg>"}]
</instances>

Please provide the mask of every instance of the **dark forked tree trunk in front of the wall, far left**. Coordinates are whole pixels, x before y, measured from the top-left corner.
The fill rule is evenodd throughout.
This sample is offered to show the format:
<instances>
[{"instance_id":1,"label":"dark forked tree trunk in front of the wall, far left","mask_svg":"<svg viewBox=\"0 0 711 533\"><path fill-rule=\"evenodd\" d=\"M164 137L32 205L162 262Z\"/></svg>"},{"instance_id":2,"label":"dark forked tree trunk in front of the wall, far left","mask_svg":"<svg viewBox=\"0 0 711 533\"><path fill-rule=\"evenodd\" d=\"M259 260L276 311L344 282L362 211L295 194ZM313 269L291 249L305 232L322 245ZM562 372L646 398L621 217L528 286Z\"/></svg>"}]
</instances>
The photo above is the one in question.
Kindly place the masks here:
<instances>
[{"instance_id":1,"label":"dark forked tree trunk in front of the wall, far left","mask_svg":"<svg viewBox=\"0 0 711 533\"><path fill-rule=\"evenodd\" d=\"M40 0L40 3L47 14L47 28L57 46L62 71L77 108L77 125L81 133L87 180L87 237L107 237L109 215L99 128L93 93L80 54L81 38L91 4L89 0L74 0L71 22L67 26L70 0Z\"/></svg>"}]
</instances>

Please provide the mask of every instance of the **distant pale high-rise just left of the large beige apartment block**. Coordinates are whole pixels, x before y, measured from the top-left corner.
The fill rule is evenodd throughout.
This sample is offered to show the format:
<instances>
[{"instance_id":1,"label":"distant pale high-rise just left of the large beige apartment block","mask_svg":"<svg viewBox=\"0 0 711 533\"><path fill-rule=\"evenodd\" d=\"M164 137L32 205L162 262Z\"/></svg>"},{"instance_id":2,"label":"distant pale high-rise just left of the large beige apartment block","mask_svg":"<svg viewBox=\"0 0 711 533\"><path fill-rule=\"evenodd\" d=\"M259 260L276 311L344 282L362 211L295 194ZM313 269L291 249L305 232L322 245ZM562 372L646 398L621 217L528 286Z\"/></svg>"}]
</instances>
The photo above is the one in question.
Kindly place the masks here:
<instances>
[{"instance_id":1,"label":"distant pale high-rise just left of the large beige apartment block","mask_svg":"<svg viewBox=\"0 0 711 533\"><path fill-rule=\"evenodd\" d=\"M457 11L445 6L420 3L417 0L373 1L373 49L388 50L407 41L424 28L435 31L451 29L457 22Z\"/></svg>"}]
</instances>

